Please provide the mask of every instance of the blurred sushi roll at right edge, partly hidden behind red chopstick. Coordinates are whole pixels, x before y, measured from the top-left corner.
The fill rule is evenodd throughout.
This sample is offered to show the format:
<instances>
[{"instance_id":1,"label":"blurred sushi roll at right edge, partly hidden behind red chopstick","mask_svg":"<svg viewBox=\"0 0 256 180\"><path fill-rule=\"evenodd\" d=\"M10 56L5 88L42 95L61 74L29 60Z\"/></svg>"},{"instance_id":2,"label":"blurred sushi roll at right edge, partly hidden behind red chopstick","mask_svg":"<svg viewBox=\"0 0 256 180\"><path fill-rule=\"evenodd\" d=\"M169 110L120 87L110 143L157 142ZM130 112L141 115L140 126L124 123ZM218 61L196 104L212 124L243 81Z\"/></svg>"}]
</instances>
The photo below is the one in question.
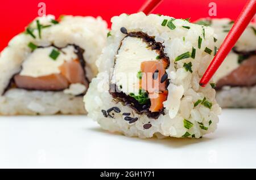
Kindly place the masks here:
<instances>
[{"instance_id":1,"label":"blurred sushi roll at right edge, partly hidden behind red chopstick","mask_svg":"<svg viewBox=\"0 0 256 180\"><path fill-rule=\"evenodd\" d=\"M216 45L233 25L230 19L201 19L216 33ZM256 24L250 23L216 72L216 99L222 108L256 108Z\"/></svg>"}]
</instances>

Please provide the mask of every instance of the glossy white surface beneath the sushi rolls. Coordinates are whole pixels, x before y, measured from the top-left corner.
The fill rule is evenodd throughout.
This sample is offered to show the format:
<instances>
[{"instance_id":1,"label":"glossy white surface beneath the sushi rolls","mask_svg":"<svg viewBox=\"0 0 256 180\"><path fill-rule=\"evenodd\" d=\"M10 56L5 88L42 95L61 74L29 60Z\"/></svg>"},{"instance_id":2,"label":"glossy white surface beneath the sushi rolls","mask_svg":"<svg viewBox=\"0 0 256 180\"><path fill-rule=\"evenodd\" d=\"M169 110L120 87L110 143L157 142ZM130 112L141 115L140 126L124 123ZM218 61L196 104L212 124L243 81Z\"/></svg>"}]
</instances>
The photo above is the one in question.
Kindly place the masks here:
<instances>
[{"instance_id":1,"label":"glossy white surface beneath the sushi rolls","mask_svg":"<svg viewBox=\"0 0 256 180\"><path fill-rule=\"evenodd\" d=\"M0 168L256 168L256 109L202 139L138 139L84 116L0 117Z\"/></svg>"}]
</instances>

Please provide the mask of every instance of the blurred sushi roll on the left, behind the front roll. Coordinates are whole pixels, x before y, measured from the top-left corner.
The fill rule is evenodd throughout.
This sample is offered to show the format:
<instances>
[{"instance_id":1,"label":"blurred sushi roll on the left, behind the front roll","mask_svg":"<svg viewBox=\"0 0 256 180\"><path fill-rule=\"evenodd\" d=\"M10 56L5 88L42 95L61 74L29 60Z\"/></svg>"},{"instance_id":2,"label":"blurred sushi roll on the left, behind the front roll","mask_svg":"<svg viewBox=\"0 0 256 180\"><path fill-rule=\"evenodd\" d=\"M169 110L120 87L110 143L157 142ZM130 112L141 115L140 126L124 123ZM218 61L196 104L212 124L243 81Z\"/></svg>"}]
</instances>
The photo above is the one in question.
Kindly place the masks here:
<instances>
[{"instance_id":1,"label":"blurred sushi roll on the left, behind the front roll","mask_svg":"<svg viewBox=\"0 0 256 180\"><path fill-rule=\"evenodd\" d=\"M101 18L36 18L1 52L0 114L85 114L107 33Z\"/></svg>"}]
</instances>

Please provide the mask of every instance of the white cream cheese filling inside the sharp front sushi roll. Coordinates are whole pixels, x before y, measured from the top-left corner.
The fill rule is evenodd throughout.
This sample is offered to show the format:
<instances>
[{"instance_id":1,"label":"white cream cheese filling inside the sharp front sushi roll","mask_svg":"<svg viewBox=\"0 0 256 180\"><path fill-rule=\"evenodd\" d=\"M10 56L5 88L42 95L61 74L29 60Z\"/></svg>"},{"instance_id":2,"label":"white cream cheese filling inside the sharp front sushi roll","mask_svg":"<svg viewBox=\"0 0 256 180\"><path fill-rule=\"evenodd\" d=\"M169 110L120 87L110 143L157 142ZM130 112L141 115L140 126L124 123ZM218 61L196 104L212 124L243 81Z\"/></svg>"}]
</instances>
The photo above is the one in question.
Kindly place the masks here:
<instances>
[{"instance_id":1,"label":"white cream cheese filling inside the sharp front sushi roll","mask_svg":"<svg viewBox=\"0 0 256 180\"><path fill-rule=\"evenodd\" d=\"M143 61L154 61L159 55L156 50L147 47L148 44L138 37L126 37L115 55L115 67L112 76L112 84L129 95L139 92L138 72ZM121 88L122 87L122 88Z\"/></svg>"}]
</instances>

